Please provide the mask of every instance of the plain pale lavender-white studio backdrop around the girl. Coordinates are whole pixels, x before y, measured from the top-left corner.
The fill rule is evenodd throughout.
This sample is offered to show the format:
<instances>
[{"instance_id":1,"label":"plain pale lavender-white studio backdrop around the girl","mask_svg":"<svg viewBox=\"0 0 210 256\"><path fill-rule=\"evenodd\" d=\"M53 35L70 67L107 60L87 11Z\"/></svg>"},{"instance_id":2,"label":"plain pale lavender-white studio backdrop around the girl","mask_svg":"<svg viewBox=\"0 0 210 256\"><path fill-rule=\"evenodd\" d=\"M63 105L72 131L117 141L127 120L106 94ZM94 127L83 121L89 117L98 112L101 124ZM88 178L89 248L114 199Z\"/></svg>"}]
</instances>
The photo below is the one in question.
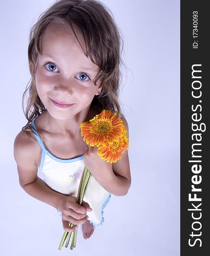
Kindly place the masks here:
<instances>
[{"instance_id":1,"label":"plain pale lavender-white studio backdrop around the girl","mask_svg":"<svg viewBox=\"0 0 210 256\"><path fill-rule=\"evenodd\" d=\"M1 0L1 255L179 255L179 1L102 2L124 37L128 72L121 102L130 131L131 188L124 197L112 196L91 239L78 229L76 249L58 250L61 219L20 187L13 157L14 138L26 124L21 101L30 79L29 29L54 1Z\"/></svg>"}]
</instances>

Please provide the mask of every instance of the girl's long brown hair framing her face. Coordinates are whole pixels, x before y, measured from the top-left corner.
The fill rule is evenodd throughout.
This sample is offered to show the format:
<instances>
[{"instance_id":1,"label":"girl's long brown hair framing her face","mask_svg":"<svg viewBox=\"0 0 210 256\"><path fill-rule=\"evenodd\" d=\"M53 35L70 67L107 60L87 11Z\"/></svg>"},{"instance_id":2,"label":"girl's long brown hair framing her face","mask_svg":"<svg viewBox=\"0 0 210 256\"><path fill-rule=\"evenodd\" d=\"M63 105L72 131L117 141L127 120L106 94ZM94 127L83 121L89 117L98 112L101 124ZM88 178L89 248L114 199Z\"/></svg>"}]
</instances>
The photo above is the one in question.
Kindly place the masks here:
<instances>
[{"instance_id":1,"label":"girl's long brown hair framing her face","mask_svg":"<svg viewBox=\"0 0 210 256\"><path fill-rule=\"evenodd\" d=\"M59 0L40 15L29 34L28 62L31 79L23 93L22 107L28 123L22 128L30 136L30 122L46 109L38 96L35 84L37 55L42 54L40 41L48 24L57 23L71 26L74 35L82 35L85 42L85 55L99 67L94 84L101 79L101 94L95 96L92 107L116 112L121 117L119 104L119 85L122 81L121 67L124 65L121 54L123 40L113 14L105 4L98 0ZM79 39L77 38L78 42ZM80 42L79 42L80 44ZM80 44L81 46L81 44ZM81 46L82 47L82 46ZM84 49L83 49L84 50ZM26 109L24 109L24 99ZM31 136L30 136L31 137Z\"/></svg>"}]
</instances>

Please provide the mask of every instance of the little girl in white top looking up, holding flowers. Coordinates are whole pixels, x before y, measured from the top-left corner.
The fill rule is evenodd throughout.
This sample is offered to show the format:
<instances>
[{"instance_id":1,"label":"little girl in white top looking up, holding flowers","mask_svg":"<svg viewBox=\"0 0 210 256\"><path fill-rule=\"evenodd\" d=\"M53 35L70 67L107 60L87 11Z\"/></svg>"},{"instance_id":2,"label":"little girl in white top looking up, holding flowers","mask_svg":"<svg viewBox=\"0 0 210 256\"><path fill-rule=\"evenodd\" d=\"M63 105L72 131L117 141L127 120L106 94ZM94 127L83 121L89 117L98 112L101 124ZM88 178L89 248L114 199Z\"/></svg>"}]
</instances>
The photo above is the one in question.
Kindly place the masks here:
<instances>
[{"instance_id":1,"label":"little girl in white top looking up, holding flowers","mask_svg":"<svg viewBox=\"0 0 210 256\"><path fill-rule=\"evenodd\" d=\"M93 225L102 224L111 194L126 195L131 184L128 151L107 163L79 129L106 109L116 112L128 131L118 102L120 43L114 19L96 0L57 1L30 31L31 82L23 94L24 99L28 93L28 123L14 141L20 186L61 212L64 230L83 224L85 239ZM93 176L80 206L76 197L84 166Z\"/></svg>"}]
</instances>

